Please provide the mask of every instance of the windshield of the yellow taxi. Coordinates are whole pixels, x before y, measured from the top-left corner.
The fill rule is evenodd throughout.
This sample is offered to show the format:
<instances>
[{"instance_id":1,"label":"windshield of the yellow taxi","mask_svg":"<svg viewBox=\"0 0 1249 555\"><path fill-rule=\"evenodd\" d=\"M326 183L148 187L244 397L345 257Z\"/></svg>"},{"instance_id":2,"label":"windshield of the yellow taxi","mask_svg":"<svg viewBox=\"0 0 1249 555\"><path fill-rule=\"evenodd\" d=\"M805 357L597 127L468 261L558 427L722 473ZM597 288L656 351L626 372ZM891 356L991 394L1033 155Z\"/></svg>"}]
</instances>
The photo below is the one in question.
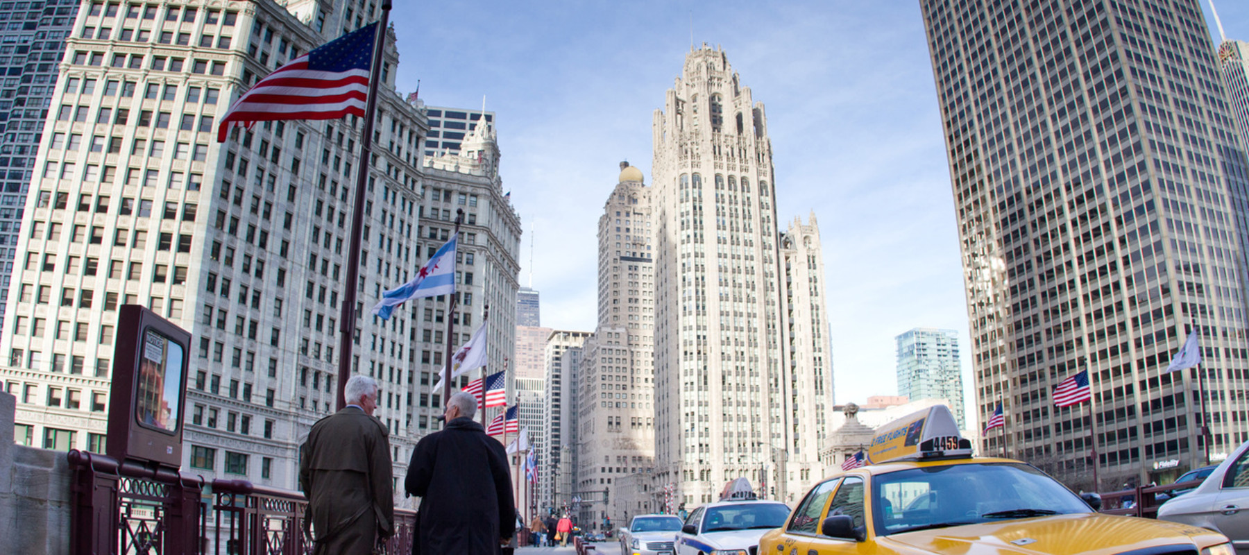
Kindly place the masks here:
<instances>
[{"instance_id":1,"label":"windshield of the yellow taxi","mask_svg":"<svg viewBox=\"0 0 1249 555\"><path fill-rule=\"evenodd\" d=\"M872 479L876 534L1090 512L1042 471L1009 462L927 466Z\"/></svg>"}]
</instances>

